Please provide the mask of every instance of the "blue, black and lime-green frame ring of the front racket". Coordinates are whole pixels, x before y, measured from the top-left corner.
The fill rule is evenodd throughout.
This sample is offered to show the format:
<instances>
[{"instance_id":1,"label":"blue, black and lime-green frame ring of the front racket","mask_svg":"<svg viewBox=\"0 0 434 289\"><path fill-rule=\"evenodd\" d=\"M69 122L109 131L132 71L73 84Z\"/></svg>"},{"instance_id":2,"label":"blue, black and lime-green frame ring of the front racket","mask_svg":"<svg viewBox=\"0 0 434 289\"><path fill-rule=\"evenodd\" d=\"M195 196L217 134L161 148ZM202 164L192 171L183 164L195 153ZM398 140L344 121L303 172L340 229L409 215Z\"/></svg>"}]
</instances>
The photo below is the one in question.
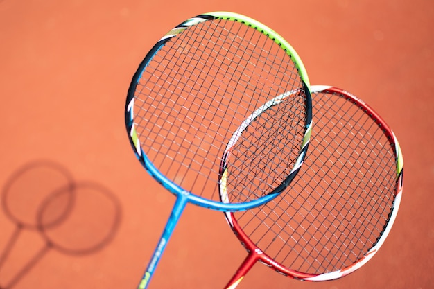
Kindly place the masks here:
<instances>
[{"instance_id":1,"label":"blue, black and lime-green frame ring of the front racket","mask_svg":"<svg viewBox=\"0 0 434 289\"><path fill-rule=\"evenodd\" d=\"M136 73L134 73L134 76L132 77L131 85L128 89L128 95L125 103L125 125L128 132L128 139L130 140L131 146L134 150L134 154L136 155L137 159L139 159L140 163L148 171L149 175L151 175L154 179L156 179L157 182L162 184L162 186L164 186L164 188L166 188L168 191L170 191L174 195L188 195L189 202L191 202L192 204L196 204L200 207L206 207L208 209L214 209L216 211L243 211L246 209L252 209L254 207L258 207L261 204L265 204L266 202L270 202L270 200L275 198L284 188L280 187L279 190L272 191L267 195L263 195L261 198L250 200L248 202L228 203L228 202L222 202L221 200L211 200L207 198L202 198L198 195L191 193L190 191L186 191L185 189L182 189L181 186L175 184L175 182L172 182L171 179L168 179L163 173L161 173L153 165L152 161L150 161L150 159L146 156L144 150L141 148L139 137L137 136L136 129L134 128L135 89L137 87L137 83L141 79L142 73L148 66L148 63L153 59L155 54L160 49L162 49L162 46L164 46L164 44L171 39L171 37L174 37L175 35L182 33L182 31L184 31L186 28L189 28L189 26L196 25L203 21L216 20L216 19L227 19L231 21L238 21L256 30L259 30L261 33L263 33L264 35L272 39L274 42L279 44L281 49L284 49L284 51L286 51L286 53L290 56L290 59L294 62L295 66L297 67L297 71L298 73L300 73L300 77L303 85L303 87L300 87L300 89L304 89L304 92L306 94L306 132L303 137L302 147L300 148L300 155L297 159L297 163L296 163L297 166L294 166L293 170L291 171L291 175L295 176L298 173L299 168L302 165L304 161L304 157L306 155L309 139L311 137L310 132L311 132L311 125L312 125L312 100L311 100L311 91L309 89L310 87L309 78L307 76L306 69L304 68L300 56L297 54L295 49L293 49L293 46L290 46L290 44L286 42L286 40L284 40L283 37L277 34L274 30L268 28L268 26L261 24L259 21L256 21L244 15L238 15L234 12L218 11L218 12L210 12L210 13L198 15L196 17L192 17L191 19L182 22L180 25L176 26L171 31L166 33L166 35L164 35L164 37L162 37L153 46L153 48L150 49L149 53L146 55L144 60L142 60L142 62L139 64L139 68L137 69ZM288 183L289 182L287 182L285 187L288 185Z\"/></svg>"}]
</instances>

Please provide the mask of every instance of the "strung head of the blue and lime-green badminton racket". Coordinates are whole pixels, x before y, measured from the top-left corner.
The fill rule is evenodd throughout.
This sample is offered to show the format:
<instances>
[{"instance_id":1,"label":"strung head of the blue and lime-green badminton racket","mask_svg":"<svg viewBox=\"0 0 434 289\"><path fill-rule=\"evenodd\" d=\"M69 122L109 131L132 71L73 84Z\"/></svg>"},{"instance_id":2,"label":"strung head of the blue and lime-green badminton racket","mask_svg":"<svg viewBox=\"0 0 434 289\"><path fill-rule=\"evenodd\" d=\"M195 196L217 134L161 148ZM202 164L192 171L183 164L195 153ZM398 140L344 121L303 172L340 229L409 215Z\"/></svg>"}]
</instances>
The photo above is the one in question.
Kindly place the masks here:
<instances>
[{"instance_id":1,"label":"strung head of the blue and lime-green badminton racket","mask_svg":"<svg viewBox=\"0 0 434 289\"><path fill-rule=\"evenodd\" d=\"M248 116L284 94L291 97L272 108L293 107L291 138L286 155L273 166L290 169L275 179L268 176L266 191L241 188L230 202L223 200L220 183L232 182L225 171L234 166L229 157L234 149L226 151L230 139ZM272 111L264 110L254 123L272 120L277 128L289 128ZM272 29L233 12L198 15L166 33L134 73L125 103L128 138L148 173L171 193L222 211L257 207L290 183L306 154L311 118L309 78L296 51ZM252 130L252 121L248 126L242 134ZM258 135L266 131L256 129ZM265 155L259 149L256 157L250 154L254 159Z\"/></svg>"}]
</instances>

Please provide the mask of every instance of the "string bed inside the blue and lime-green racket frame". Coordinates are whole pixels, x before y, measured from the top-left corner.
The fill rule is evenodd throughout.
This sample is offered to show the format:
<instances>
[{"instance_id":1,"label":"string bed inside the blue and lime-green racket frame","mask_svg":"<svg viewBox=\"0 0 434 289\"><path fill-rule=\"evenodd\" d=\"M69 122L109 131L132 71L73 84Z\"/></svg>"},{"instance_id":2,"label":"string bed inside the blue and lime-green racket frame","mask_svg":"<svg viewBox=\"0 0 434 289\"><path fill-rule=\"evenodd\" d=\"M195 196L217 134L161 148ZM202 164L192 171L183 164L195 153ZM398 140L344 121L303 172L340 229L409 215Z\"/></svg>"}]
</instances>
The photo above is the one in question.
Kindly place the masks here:
<instances>
[{"instance_id":1,"label":"string bed inside the blue and lime-green racket frame","mask_svg":"<svg viewBox=\"0 0 434 289\"><path fill-rule=\"evenodd\" d=\"M214 21L207 21L205 24L208 22L210 22L210 25L213 25ZM236 25L239 26L239 29L243 28L241 24L238 24L235 21L229 22L232 22L230 23L230 29L233 29L233 26ZM208 29L208 27L203 27L205 24L197 25L197 29L195 29L195 27L188 30L189 32L191 31L191 33L196 33L195 35L191 35L191 33L182 33L176 41L173 41L173 45L166 44L162 48L164 51L161 53L160 51L157 52L154 56L154 60L148 65L146 71L144 71L148 77L142 76L138 83L138 85L143 88L137 90L135 103L137 103L137 100L142 100L146 96L146 100L142 100L144 105L136 105L136 107L134 107L134 110L137 111L137 134L146 135L146 139L142 141L142 148L144 148L144 150L150 150L150 152L147 153L148 157L153 157L151 161L153 161L154 164L159 164L159 167L171 168L173 170L173 172L163 171L164 175L182 175L176 177L177 182L179 182L181 186L184 186L189 178L198 179L199 177L201 179L207 179L206 181L202 180L197 182L198 185L195 185L196 183L192 182L193 184L190 184L190 186L186 188L198 195L205 194L205 191L216 192L216 186L214 186L214 189L211 189L209 186L204 186L204 183L218 183L218 170L215 169L214 164L221 162L222 146L223 144L226 145L227 139L232 135L231 130L223 132L221 128L234 128L232 123L241 123L245 119L245 115L249 111L259 107L259 100L266 99L267 95L273 95L290 90L293 86L302 87L301 83L290 83L288 81L294 82L295 80L284 78L284 76L291 76L293 69L295 69L294 65L290 64L290 62L286 63L287 68L285 71L279 73L279 70L281 70L282 67L285 67L283 60L276 60L270 56L270 53L277 53L279 51L264 52L261 50L258 52L258 44L243 44L246 40L241 37L235 38L235 40L238 38L243 40L243 42L240 41L240 44L238 44L239 47L236 47L235 41L231 42L231 46L227 48L225 48L225 45L227 45L226 43L219 44L216 41L215 45L218 50L215 54L221 57L221 63L219 63L219 67L216 67L214 62L220 58L213 58L211 64L207 64L206 61L210 58L208 55L211 55L212 53L209 53L206 55L207 57L203 59L201 51L204 51L204 49L198 49L198 47L203 45L204 42L203 39L198 40L198 37L203 35L202 29ZM219 26L216 25L216 27ZM239 29L236 30L236 33L239 33ZM198 32L196 32L196 30L198 30ZM245 33L248 33L248 31L249 30L246 30ZM225 37L229 37L229 30L223 30L223 32L225 32ZM252 34L252 37L253 35L254 34ZM214 37L218 40L222 39L222 37L218 35ZM258 38L257 42L260 40L268 40L265 35L256 37ZM186 41L184 39L193 39L194 42ZM177 42L180 42L185 46L185 51L176 45ZM184 44L184 42L186 42L186 44ZM272 44L277 46L275 42L272 42ZM252 49L249 49L250 46L252 46ZM196 49L193 49L194 47L196 47ZM270 47L272 47L272 45ZM182 51L180 51L180 49ZM237 50L235 51L235 49ZM246 51L246 49L248 50ZM223 55L221 51L224 51ZM231 55L228 55L229 53ZM243 54L239 56L240 59L245 59L245 55L250 55L248 61L245 62L245 67L241 66L240 63L236 63L234 60L238 53ZM265 53L267 58L263 57L262 59L261 54L258 53ZM171 55L171 59L168 60L168 62L165 62L159 58L160 54L164 56ZM184 58L178 54L183 55ZM254 57L255 55L256 57ZM195 58L200 58L201 61L197 61ZM229 59L230 62L228 62L227 59ZM177 71L175 77L171 76L173 73L170 74L164 72L171 68L170 66L167 67L167 65L170 65L173 62L175 62L175 64L173 64L173 70ZM176 64L176 62L182 62L182 64ZM270 71L272 70L272 67L277 66L279 67L277 74L280 74L283 79L270 79ZM231 71L231 69L234 70L234 76L236 76L236 71L242 71L240 77L227 79L229 74L227 71ZM209 74L213 70L216 70L217 72L214 72L215 76L211 78ZM248 71L250 75L248 75L246 71ZM167 79L164 79L164 77ZM219 77L222 79L219 79ZM242 78L245 78L245 81L242 80ZM206 89L202 87L205 82L208 82L207 86L205 86ZM290 88L287 88L288 83L292 85ZM281 91L277 91L276 89L282 85L284 85L285 88ZM210 88L208 88L208 86ZM273 89L266 89L270 86ZM155 87L157 87L157 89L155 89ZM175 91L175 89L171 89L170 87L177 87L179 91L177 91L176 94L173 94L172 91ZM221 89L222 87L225 89ZM231 90L232 92L232 94L229 94L229 100L226 99L228 95L227 90ZM209 94L211 94L211 96ZM173 100L173 98L177 99ZM232 105L229 105L229 103ZM237 105L234 106L234 103ZM294 162L295 157L297 157L297 154L294 152L298 153L298 150L300 149L300 139L303 138L303 133L305 131L303 125L303 123L306 123L304 94L299 94L292 104L301 106L298 110L288 112L290 113L290 117L293 117L293 119L289 119L288 117L286 118L286 120L292 121L291 125L299 130L298 133L294 133L297 138L294 138L295 136L291 138L288 137L285 142L288 145L293 143L290 148L293 150L291 161ZM292 104L288 103L286 107L289 107ZM150 110L150 107L153 108L153 110ZM297 119L297 112L300 113L300 119ZM266 120L268 122L274 123L276 128L282 127L284 120L272 116L271 112L264 113L264 115L265 114L267 115ZM180 119L181 117L183 119ZM171 121L172 119L173 121ZM176 125L175 121L178 122ZM157 126L157 129L148 128L150 123L154 123L154 127ZM182 125L180 125L181 123ZM297 125L297 123L300 123L300 125ZM186 125L188 125L188 128L186 128ZM216 131L210 131L211 128L216 129ZM265 128L262 127L258 129L264 130ZM275 132L276 135L277 133L278 132ZM196 135L196 138L188 139L191 135ZM164 137L169 139L170 143L165 141L163 139ZM252 135L250 135L250 137L252 137ZM272 137L275 138L275 136ZM174 139L171 140L170 138ZM205 139L208 139L208 141L205 141ZM290 142L288 141L289 139L295 139L295 141ZM279 139L279 141L280 140L281 139ZM275 143L277 142L278 141L275 139ZM253 142L250 143L252 144ZM258 150L264 150L264 148L259 147L259 145L257 145L256 148ZM203 159L199 159L198 156L201 155L203 156ZM162 162L164 161L164 158L171 159L171 162ZM253 160L260 160L260 158L257 156L255 157L253 154L249 157L245 157L246 160L244 166L252 169L255 167L255 163L254 161L249 160L249 158ZM161 161L158 162L157 159L161 159ZM237 161L240 160L237 159ZM207 166L202 166L202 164L207 164ZM275 164L273 167L278 165L279 164ZM177 169L174 168L176 166L178 167ZM288 167L288 165L286 166ZM213 167L214 170L212 169ZM189 173L182 173L182 170L188 170ZM202 170L207 171L207 175L200 173ZM196 176L193 176L195 174ZM248 177L248 179L252 178L259 177L257 175ZM272 177L264 175L264 177L261 178L263 182L267 179L272 179ZM275 182L274 179L272 179L272 181ZM198 189L201 191L196 191ZM258 190L243 189L240 195L238 195L238 201L243 202L244 200L256 199L257 195L250 196L250 192L257 191ZM261 191L270 192L269 189L262 189Z\"/></svg>"}]
</instances>

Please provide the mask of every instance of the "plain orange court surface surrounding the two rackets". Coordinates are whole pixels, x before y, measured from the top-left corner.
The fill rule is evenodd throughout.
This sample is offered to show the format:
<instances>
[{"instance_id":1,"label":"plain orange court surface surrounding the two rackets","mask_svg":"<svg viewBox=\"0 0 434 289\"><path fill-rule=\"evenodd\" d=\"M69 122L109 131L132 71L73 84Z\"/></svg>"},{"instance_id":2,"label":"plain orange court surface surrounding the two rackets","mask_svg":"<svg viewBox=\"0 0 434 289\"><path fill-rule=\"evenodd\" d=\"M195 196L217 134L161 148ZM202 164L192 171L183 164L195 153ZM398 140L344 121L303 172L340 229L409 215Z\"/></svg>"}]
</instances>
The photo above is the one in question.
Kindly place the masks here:
<instances>
[{"instance_id":1,"label":"plain orange court surface surrounding the two rackets","mask_svg":"<svg viewBox=\"0 0 434 289\"><path fill-rule=\"evenodd\" d=\"M123 121L126 91L159 37L189 17L215 10L270 26L300 54L312 85L347 89L374 107L397 135L405 164L395 225L363 268L337 281L304 283L257 264L239 288L434 288L431 0L0 0L2 193L32 161L55 161L82 193L90 191L83 183L100 188L99 199L89 198L83 210L71 212L76 222L64 229L69 235L62 242L89 237L72 243L78 246L95 242L90 239L97 233L112 234L86 254L50 247L12 287L137 286L175 198L132 153ZM52 181L40 174L37 179ZM37 189L14 180L29 194ZM115 206L102 211L101 195L114 196ZM31 200L23 197L17 204L34 208ZM107 227L115 216L117 225ZM0 255L15 226L0 211ZM23 231L0 268L0 288L44 247L40 231ZM222 213L189 204L150 288L223 288L245 254Z\"/></svg>"}]
</instances>

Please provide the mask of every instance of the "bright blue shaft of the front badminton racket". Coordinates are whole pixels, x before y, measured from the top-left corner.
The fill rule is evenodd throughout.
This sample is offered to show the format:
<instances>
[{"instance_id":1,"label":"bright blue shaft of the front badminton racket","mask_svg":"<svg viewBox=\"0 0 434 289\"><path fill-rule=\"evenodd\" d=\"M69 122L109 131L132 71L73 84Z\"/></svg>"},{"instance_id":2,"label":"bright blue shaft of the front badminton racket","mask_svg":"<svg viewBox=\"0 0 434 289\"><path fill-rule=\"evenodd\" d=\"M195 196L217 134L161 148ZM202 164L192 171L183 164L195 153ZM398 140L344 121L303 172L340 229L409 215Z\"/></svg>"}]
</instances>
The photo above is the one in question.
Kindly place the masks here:
<instances>
[{"instance_id":1,"label":"bright blue shaft of the front badminton racket","mask_svg":"<svg viewBox=\"0 0 434 289\"><path fill-rule=\"evenodd\" d=\"M182 212L184 211L184 208L188 200L189 199L187 195L183 195L183 194L177 195L176 202L171 212L171 216L167 220L166 227L164 227L163 234L159 239L154 254L148 263L148 267L146 268L145 274L142 277L139 286L137 287L138 289L148 288L150 278L153 277L155 268L157 268L157 265L159 263L159 260L162 257L164 249L166 249L168 240L169 238L171 238L173 234L173 230L175 229L178 220L180 220L180 217L182 215Z\"/></svg>"}]
</instances>

